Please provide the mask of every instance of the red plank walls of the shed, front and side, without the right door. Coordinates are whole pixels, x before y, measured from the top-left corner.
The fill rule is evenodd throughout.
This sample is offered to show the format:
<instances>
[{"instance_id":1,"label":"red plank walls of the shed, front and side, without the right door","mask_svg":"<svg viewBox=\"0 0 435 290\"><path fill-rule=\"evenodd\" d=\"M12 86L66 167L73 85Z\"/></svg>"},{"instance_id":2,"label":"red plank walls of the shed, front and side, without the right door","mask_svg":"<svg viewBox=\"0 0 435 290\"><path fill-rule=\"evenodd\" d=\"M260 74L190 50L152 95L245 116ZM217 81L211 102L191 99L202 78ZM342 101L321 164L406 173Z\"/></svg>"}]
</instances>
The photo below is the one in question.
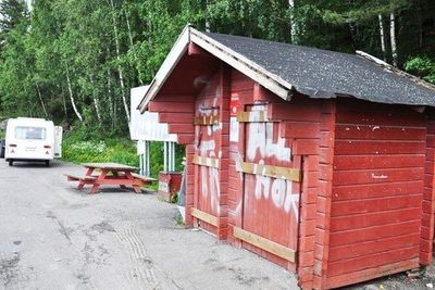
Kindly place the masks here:
<instances>
[{"instance_id":1,"label":"red plank walls of the shed, front and side, without the right door","mask_svg":"<svg viewBox=\"0 0 435 290\"><path fill-rule=\"evenodd\" d=\"M424 114L407 106L355 100L294 96L285 102L225 65L208 79L213 88L191 96L159 94L149 104L186 144L186 226L194 225L191 211L199 207L195 220L201 227L296 272L302 289L355 283L432 261L435 119L426 123ZM237 141L229 140L232 96L239 98L243 111L266 105L268 116L262 117L277 123L293 161L302 166L297 264L233 234L235 227L244 228L246 180L238 166L246 161L247 144L244 122L238 123ZM200 129L194 122L206 103L215 106L221 126L212 137L214 156L208 155L219 160L219 210L208 207L207 199L200 201L200 166L190 162L200 153ZM202 124L207 122L197 118L196 125L210 127ZM211 224L199 220L201 216Z\"/></svg>"}]
</instances>

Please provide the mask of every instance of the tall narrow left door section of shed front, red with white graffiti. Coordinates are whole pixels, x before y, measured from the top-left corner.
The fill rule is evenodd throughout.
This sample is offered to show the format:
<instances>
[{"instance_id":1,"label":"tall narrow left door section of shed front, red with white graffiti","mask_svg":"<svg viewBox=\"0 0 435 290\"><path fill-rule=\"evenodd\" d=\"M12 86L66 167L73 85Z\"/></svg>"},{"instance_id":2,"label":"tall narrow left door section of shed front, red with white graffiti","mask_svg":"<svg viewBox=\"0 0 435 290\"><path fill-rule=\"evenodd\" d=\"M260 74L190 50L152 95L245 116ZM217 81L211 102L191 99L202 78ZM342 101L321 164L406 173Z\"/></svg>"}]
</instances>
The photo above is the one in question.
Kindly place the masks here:
<instances>
[{"instance_id":1,"label":"tall narrow left door section of shed front, red with white graffiti","mask_svg":"<svg viewBox=\"0 0 435 290\"><path fill-rule=\"evenodd\" d=\"M195 217L196 225L219 239L227 235L227 182L228 182L228 134L229 134L229 71L221 65L220 70L203 86L195 100L195 119L215 116L216 124L196 122L196 159L215 160L217 166L195 164L194 207L217 217L217 225ZM192 119L194 122L194 119Z\"/></svg>"}]
</instances>

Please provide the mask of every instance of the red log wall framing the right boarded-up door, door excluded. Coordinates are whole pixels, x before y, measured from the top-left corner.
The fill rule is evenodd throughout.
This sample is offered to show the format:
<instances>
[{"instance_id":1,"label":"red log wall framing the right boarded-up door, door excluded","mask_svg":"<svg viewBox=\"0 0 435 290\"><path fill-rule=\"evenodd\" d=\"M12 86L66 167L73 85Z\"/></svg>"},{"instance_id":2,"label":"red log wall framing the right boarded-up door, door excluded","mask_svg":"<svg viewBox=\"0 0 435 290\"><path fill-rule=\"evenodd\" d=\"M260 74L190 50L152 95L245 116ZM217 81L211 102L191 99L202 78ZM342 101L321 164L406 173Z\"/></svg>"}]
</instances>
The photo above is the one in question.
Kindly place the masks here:
<instances>
[{"instance_id":1,"label":"red log wall framing the right boarded-up door, door excluded","mask_svg":"<svg viewBox=\"0 0 435 290\"><path fill-rule=\"evenodd\" d=\"M298 265L253 245L245 243L244 247L297 273L299 285L303 289L311 289L314 281L316 217L320 214L316 213L318 192L326 189L325 184L331 186L332 178L334 101L324 102L296 96L291 102L285 102L236 71L232 74L232 94L239 98L243 108L252 103L268 104L268 118L277 123L279 136L285 138L286 146L291 148L294 161L303 164L303 184L301 186L298 186L298 182L294 184L298 186L294 188L295 192L302 192L298 205L299 232L291 234L299 236L296 249ZM246 124L239 123L238 142L231 142L229 147L228 239L238 245L241 245L241 242L233 236L233 228L243 227L243 194L246 181L236 167L237 163L246 160L245 130ZM321 174L319 168L322 168ZM327 192L331 194L331 189ZM320 211L324 209L321 207ZM268 216L268 213L258 214Z\"/></svg>"}]
</instances>

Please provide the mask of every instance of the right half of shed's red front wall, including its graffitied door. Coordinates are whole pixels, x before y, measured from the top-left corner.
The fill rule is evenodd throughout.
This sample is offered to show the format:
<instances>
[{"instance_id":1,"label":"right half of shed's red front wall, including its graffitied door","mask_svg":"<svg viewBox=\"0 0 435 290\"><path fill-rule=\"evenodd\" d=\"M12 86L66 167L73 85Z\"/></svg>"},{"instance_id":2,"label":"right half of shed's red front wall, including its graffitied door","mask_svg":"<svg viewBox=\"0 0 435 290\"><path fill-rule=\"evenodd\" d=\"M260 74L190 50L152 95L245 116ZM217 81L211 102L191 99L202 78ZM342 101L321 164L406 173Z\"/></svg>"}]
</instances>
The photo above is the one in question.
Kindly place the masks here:
<instances>
[{"instance_id":1,"label":"right half of shed's red front wall, including its graffitied door","mask_svg":"<svg viewBox=\"0 0 435 290\"><path fill-rule=\"evenodd\" d=\"M322 237L328 237L323 234L326 220L321 215L331 197L335 101L295 96L285 102L237 71L231 85L232 97L238 98L243 110L265 112L268 122L237 123L238 138L229 142L228 238L298 273L300 286L312 288L314 252L322 255L326 242ZM263 144L261 134L271 139L276 152ZM240 162L300 169L302 181L240 173ZM233 236L234 227L295 250L297 263L241 242Z\"/></svg>"}]
</instances>

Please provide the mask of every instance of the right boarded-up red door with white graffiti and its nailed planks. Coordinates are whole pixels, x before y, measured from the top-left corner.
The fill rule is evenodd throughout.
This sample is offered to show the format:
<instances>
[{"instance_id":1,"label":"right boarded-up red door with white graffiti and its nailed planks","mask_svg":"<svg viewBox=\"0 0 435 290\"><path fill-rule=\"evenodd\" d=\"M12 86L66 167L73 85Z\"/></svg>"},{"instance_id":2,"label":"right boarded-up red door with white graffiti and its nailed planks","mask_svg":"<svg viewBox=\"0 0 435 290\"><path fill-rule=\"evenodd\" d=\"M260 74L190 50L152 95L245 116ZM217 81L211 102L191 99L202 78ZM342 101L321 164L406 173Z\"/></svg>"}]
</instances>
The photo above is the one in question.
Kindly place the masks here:
<instances>
[{"instance_id":1,"label":"right boarded-up red door with white graffiti and its nailed planks","mask_svg":"<svg viewBox=\"0 0 435 290\"><path fill-rule=\"evenodd\" d=\"M286 266L297 249L300 159L279 137L282 123L268 122L265 105L248 111L238 116L246 122L246 151L243 228L235 228L235 236L245 248Z\"/></svg>"}]
</instances>

